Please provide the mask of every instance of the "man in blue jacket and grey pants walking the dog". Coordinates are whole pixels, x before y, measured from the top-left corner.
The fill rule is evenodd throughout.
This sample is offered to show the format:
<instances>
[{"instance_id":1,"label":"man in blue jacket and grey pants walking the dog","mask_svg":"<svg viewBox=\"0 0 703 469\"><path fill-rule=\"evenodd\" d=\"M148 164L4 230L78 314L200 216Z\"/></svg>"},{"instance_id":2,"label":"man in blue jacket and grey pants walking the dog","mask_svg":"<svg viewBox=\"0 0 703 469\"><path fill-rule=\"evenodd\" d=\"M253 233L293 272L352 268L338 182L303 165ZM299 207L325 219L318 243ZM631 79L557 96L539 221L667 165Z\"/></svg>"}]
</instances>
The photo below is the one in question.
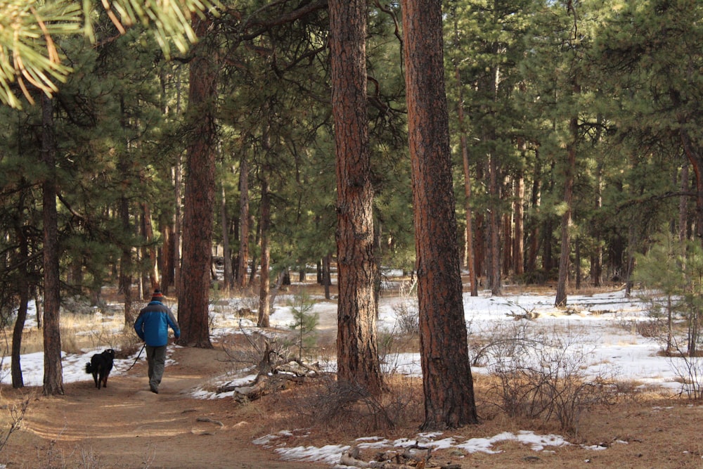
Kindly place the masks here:
<instances>
[{"instance_id":1,"label":"man in blue jacket and grey pants walking the dog","mask_svg":"<svg viewBox=\"0 0 703 469\"><path fill-rule=\"evenodd\" d=\"M141 311L134 330L141 340L146 342L146 361L149 364L149 388L159 394L159 385L164 375L166 364L166 345L169 343L169 326L174 330L174 337L181 337L181 329L171 309L162 303L164 295L154 290L151 301Z\"/></svg>"}]
</instances>

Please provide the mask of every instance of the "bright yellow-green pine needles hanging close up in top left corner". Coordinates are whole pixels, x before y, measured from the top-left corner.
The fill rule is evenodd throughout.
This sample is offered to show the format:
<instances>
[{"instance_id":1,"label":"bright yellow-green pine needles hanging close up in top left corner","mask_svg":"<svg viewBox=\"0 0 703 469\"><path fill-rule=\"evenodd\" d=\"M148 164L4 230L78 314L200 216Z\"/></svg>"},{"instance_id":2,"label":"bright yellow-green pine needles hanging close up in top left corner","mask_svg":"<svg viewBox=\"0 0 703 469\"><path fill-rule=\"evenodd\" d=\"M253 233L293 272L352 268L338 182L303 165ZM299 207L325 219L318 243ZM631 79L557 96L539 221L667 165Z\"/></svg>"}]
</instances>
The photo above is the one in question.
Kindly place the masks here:
<instances>
[{"instance_id":1,"label":"bright yellow-green pine needles hanging close up in top left corner","mask_svg":"<svg viewBox=\"0 0 703 469\"><path fill-rule=\"evenodd\" d=\"M89 0L0 1L0 102L21 108L11 84L17 82L30 103L31 88L53 95L72 72L56 42L60 37L80 32L96 41L93 3ZM120 34L134 25L151 25L165 56L172 44L181 53L197 38L191 27L191 14L219 6L217 0L117 0L104 3L104 13ZM82 25L83 23L83 25Z\"/></svg>"}]
</instances>

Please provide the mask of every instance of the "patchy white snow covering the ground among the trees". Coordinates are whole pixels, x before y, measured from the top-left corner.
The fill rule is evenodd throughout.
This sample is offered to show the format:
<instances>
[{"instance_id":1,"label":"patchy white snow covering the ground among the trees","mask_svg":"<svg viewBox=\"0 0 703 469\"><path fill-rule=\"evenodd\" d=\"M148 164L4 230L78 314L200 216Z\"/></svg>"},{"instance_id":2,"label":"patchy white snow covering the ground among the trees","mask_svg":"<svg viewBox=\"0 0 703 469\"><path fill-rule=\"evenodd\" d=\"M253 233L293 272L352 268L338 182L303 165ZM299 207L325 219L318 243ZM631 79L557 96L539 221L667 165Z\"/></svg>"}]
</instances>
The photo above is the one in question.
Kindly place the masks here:
<instances>
[{"instance_id":1,"label":"patchy white snow covering the ground among the trees","mask_svg":"<svg viewBox=\"0 0 703 469\"><path fill-rule=\"evenodd\" d=\"M293 316L289 304L292 297L280 296L276 300L276 307L271 314L271 326L288 330L293 323ZM484 355L479 362L472 366L474 373L489 373L496 366L505 364L514 359L524 360L526 355L535 353L537 347L529 350L521 349L527 353L511 354L510 351L501 353L497 345L484 349L488 343L508 343L515 347L519 338L539 338L540 351L536 352L536 359L544 360L546 356L558 356L563 359L565 353L572 356L579 369L586 375L605 376L617 380L628 381L633 385L660 387L669 392L685 392L682 378L685 378L688 365L682 364L683 359L662 356L662 343L652 338L644 338L637 333L637 324L651 321L647 314L647 304L641 302L636 296L626 297L624 291L602 293L597 295L571 295L568 298L567 311L553 306L554 297L546 295L505 295L491 297L488 293L481 293L478 297L464 296L464 309L467 327L470 331L471 353L484 350ZM400 319L407 322L408 315L413 316L413 300L403 297L384 297L380 301L380 317L378 327L380 330L398 330ZM236 300L219 300L212 307L214 324L212 335L220 336L228 333L241 333L243 328L252 328L254 324L240 321L234 317L233 311L237 310ZM313 309L321 317L321 323L334 323L336 306L333 302L316 303ZM410 311L408 313L408 311ZM30 311L29 317L34 312ZM528 314L531 319L520 319ZM399 318L399 316L406 316ZM27 327L35 326L31 323ZM507 340L506 340L507 339ZM515 349L510 349L515 352ZM547 352L545 352L547 350ZM63 355L63 380L72 382L77 380L91 380L86 375L84 366L96 350L86 350L82 354ZM136 358L136 357L134 357ZM473 357L472 357L473 358ZM529 359L529 356L528 358ZM9 357L4 357L2 363L1 382L10 383ZM127 360L131 364L132 360ZM21 357L22 373L25 385L39 386L43 375L43 356L41 352L27 354ZM124 373L127 366L116 366L114 374ZM683 366L682 366L683 365ZM329 365L334 368L335 364ZM420 357L417 353L404 353L384 357L384 368L387 372L418 375L420 371ZM698 366L695 364L695 366ZM250 380L250 376L240 377L242 383ZM222 377L223 383L232 383L233 376ZM209 383L209 389L213 389ZM201 399L213 399L229 394L214 394L205 390L194 390L193 396ZM340 455L348 446L329 445L324 448L297 447L286 448L277 446L275 441L285 435L289 430L284 430L280 435L267 435L257 440L257 444L275 447L282 458L325 461L335 464L340 461ZM358 442L359 446L373 445L404 446L413 444L421 439L426 446L446 447L460 446L465 451L493 451L492 445L505 439L522 442L533 449L543 446L561 446L569 444L558 435L535 435L532 432L518 432L517 434L501 434L487 439L476 439L464 442L454 442L451 438L442 437L441 434L415 435L411 440L397 440L389 442L381 437L368 437Z\"/></svg>"}]
</instances>

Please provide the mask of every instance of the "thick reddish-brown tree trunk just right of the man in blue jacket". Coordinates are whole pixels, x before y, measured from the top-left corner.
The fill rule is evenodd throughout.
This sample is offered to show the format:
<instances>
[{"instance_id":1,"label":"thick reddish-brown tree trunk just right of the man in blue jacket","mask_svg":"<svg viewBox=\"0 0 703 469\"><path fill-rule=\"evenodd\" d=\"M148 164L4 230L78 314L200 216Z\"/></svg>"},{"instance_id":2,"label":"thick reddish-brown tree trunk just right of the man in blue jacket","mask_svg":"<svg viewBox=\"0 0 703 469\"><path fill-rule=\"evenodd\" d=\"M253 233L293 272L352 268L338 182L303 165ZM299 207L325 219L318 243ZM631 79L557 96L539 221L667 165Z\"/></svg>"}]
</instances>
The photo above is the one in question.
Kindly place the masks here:
<instances>
[{"instance_id":1,"label":"thick reddish-brown tree trunk just right of the man in blue jacket","mask_svg":"<svg viewBox=\"0 0 703 469\"><path fill-rule=\"evenodd\" d=\"M186 197L183 216L183 265L179 285L180 345L211 348L208 322L209 271L212 262L212 217L217 124L217 58L207 31L212 17L193 15L200 43L193 49L188 108L192 139L186 149Z\"/></svg>"}]
</instances>

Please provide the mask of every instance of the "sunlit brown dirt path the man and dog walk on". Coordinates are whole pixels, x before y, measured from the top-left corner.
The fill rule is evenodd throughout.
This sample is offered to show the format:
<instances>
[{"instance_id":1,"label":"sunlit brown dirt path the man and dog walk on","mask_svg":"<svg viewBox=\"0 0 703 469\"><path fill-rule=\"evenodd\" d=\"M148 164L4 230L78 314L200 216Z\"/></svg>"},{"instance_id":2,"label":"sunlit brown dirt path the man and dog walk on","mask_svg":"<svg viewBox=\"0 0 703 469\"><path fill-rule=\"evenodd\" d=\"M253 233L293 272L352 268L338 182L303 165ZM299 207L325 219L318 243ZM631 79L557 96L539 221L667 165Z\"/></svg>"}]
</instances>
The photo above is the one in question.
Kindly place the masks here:
<instances>
[{"instance_id":1,"label":"sunlit brown dirt path the man and dog walk on","mask_svg":"<svg viewBox=\"0 0 703 469\"><path fill-rule=\"evenodd\" d=\"M23 428L11 435L0 463L8 469L327 467L280 461L271 449L252 444L283 430L264 428L255 406L191 397L190 390L224 371L224 352L178 348L173 359L159 394L148 390L143 359L101 390L92 380L68 383L60 397L3 387L4 400L25 396L30 402ZM116 366L131 364L124 362Z\"/></svg>"}]
</instances>

